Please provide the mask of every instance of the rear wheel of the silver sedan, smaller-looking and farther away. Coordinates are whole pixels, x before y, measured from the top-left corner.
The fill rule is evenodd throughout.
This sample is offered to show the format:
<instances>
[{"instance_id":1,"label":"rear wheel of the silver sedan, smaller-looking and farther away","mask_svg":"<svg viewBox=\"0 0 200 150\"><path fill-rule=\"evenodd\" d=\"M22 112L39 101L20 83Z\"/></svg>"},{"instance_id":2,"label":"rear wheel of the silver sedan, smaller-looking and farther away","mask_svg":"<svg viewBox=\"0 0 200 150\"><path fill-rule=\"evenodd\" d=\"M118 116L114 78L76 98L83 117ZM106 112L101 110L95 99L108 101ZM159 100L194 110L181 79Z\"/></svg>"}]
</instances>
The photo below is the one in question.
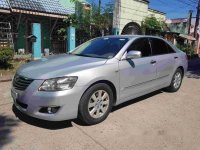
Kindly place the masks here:
<instances>
[{"instance_id":1,"label":"rear wheel of the silver sedan, smaller-looking and farther away","mask_svg":"<svg viewBox=\"0 0 200 150\"><path fill-rule=\"evenodd\" d=\"M180 78L177 77L178 75L180 75ZM181 87L182 80L183 80L183 71L180 68L178 68L173 75L170 86L167 87L165 90L167 92L177 92ZM178 83L175 83L176 81Z\"/></svg>"}]
</instances>

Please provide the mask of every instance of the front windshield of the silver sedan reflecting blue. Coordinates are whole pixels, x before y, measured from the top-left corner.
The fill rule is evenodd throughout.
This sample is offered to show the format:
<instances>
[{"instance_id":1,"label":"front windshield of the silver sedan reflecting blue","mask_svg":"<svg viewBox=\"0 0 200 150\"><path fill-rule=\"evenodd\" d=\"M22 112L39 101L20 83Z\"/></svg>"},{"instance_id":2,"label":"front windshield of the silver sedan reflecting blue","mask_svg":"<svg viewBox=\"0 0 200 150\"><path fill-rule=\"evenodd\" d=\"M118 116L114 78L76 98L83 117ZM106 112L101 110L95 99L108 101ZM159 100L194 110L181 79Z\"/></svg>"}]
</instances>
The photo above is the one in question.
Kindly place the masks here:
<instances>
[{"instance_id":1,"label":"front windshield of the silver sedan reflecting blue","mask_svg":"<svg viewBox=\"0 0 200 150\"><path fill-rule=\"evenodd\" d=\"M70 54L84 57L110 59L122 49L128 40L128 38L116 37L97 38L82 44Z\"/></svg>"}]
</instances>

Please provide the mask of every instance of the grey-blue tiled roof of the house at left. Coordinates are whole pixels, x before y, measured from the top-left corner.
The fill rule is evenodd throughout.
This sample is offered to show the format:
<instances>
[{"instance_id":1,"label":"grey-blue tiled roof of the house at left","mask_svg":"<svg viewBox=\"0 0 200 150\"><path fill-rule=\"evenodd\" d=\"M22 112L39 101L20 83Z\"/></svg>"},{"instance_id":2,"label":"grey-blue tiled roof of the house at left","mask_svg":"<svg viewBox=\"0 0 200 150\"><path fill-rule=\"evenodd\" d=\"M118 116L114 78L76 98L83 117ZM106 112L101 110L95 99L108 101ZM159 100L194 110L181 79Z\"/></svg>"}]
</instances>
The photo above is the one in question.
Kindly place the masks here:
<instances>
[{"instance_id":1,"label":"grey-blue tiled roof of the house at left","mask_svg":"<svg viewBox=\"0 0 200 150\"><path fill-rule=\"evenodd\" d=\"M66 8L59 0L1 0L0 9L30 14L67 15L75 12L74 8Z\"/></svg>"}]
</instances>

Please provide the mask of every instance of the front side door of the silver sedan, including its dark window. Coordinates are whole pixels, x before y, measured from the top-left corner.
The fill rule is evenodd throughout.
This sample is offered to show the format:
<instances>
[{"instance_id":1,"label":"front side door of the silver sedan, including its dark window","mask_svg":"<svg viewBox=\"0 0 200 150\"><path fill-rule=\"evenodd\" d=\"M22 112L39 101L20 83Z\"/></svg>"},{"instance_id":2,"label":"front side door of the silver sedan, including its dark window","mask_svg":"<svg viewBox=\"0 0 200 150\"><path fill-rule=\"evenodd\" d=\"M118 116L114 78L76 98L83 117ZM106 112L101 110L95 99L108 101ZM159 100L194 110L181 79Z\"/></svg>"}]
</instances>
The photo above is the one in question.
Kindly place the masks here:
<instances>
[{"instance_id":1,"label":"front side door of the silver sedan, including its dark window","mask_svg":"<svg viewBox=\"0 0 200 150\"><path fill-rule=\"evenodd\" d=\"M136 39L126 53L131 50L141 51L142 57L119 61L121 102L148 93L156 79L155 56L152 56L148 38Z\"/></svg>"}]
</instances>

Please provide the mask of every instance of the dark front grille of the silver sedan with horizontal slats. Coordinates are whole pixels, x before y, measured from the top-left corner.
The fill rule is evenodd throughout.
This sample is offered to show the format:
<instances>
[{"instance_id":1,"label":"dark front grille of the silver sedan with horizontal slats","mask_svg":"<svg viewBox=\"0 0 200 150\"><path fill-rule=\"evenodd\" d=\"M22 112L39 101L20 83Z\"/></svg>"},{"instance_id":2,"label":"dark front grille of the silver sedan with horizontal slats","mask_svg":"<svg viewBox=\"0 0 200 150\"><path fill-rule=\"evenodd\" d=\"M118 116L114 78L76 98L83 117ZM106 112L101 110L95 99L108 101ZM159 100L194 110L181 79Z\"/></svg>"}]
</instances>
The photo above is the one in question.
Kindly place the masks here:
<instances>
[{"instance_id":1,"label":"dark front grille of the silver sedan with horizontal slats","mask_svg":"<svg viewBox=\"0 0 200 150\"><path fill-rule=\"evenodd\" d=\"M15 75L13 79L13 87L17 90L24 91L33 82L33 79L28 79L19 75Z\"/></svg>"}]
</instances>

